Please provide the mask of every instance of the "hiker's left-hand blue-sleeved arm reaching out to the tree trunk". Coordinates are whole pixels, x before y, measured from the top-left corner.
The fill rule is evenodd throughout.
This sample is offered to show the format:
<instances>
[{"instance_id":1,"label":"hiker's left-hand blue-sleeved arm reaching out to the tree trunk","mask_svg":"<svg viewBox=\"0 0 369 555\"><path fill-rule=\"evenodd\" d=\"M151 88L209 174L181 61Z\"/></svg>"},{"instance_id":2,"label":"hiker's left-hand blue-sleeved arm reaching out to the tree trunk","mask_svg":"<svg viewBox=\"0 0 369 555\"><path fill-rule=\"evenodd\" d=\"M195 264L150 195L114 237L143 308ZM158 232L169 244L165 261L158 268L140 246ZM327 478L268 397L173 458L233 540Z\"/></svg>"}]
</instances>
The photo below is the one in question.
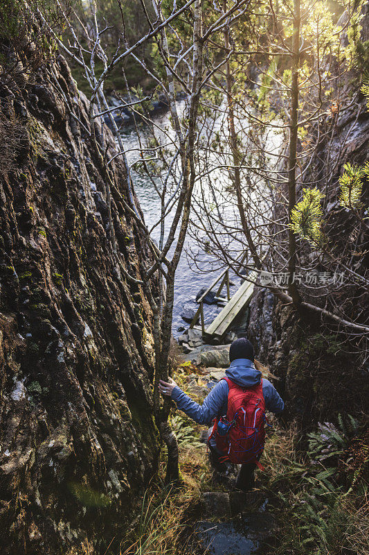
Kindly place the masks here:
<instances>
[{"instance_id":1,"label":"hiker's left-hand blue-sleeved arm reaching out to the tree trunk","mask_svg":"<svg viewBox=\"0 0 369 555\"><path fill-rule=\"evenodd\" d=\"M222 407L226 409L228 399L228 384L225 379L221 379L204 399L202 404L192 400L184 393L179 386L171 379L170 382L161 380L159 389L163 395L168 395L177 403L177 408L195 420L197 424L210 424L219 415Z\"/></svg>"}]
</instances>

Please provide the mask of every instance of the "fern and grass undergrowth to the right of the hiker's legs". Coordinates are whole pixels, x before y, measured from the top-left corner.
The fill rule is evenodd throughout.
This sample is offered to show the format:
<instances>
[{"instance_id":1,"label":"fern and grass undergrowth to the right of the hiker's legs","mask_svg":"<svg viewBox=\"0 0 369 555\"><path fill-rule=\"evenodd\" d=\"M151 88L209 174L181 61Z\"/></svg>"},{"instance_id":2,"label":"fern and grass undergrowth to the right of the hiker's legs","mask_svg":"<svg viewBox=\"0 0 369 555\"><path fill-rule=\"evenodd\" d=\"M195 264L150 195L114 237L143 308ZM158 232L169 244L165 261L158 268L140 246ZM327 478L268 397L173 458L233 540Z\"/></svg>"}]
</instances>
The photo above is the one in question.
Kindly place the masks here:
<instances>
[{"instance_id":1,"label":"fern and grass undergrowth to the right of the hiker's legs","mask_svg":"<svg viewBox=\"0 0 369 555\"><path fill-rule=\"evenodd\" d=\"M319 424L298 456L294 428L275 429L263 457L261 487L278 520L274 555L369 552L368 428L354 418Z\"/></svg>"}]
</instances>

